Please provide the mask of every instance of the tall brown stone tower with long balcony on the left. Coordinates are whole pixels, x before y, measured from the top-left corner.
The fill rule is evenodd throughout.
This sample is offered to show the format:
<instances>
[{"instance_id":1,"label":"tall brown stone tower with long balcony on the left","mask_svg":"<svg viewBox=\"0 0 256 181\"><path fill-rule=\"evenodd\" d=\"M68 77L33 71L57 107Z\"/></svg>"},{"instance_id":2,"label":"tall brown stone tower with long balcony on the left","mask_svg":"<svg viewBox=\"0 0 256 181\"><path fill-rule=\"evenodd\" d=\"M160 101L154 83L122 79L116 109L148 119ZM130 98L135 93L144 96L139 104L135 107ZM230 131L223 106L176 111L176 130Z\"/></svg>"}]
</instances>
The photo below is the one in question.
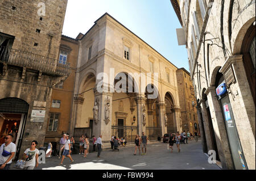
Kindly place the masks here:
<instances>
[{"instance_id":1,"label":"tall brown stone tower with long balcony on the left","mask_svg":"<svg viewBox=\"0 0 256 181\"><path fill-rule=\"evenodd\" d=\"M0 2L0 131L14 134L16 157L43 146L52 87L69 65L57 60L67 0Z\"/></svg>"}]
</instances>

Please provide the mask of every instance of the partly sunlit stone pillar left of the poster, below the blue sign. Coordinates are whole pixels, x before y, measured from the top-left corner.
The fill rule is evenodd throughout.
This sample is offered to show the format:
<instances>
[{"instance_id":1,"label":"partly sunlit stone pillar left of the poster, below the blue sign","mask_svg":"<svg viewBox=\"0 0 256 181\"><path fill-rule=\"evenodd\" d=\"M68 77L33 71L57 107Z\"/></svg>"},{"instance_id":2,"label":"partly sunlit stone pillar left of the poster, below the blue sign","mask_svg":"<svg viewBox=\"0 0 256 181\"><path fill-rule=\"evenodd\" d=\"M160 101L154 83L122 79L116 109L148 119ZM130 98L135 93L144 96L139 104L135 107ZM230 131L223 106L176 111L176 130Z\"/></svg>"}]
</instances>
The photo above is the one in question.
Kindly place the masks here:
<instances>
[{"instance_id":1,"label":"partly sunlit stone pillar left of the poster, below the blue sign","mask_svg":"<svg viewBox=\"0 0 256 181\"><path fill-rule=\"evenodd\" d=\"M228 134L226 133L225 122L222 114L222 108L220 106L219 100L217 100L216 97L216 88L213 86L208 87L208 89L205 91L205 94L207 95L210 115L212 116L211 120L222 168L234 169L232 154L229 148Z\"/></svg>"}]
</instances>

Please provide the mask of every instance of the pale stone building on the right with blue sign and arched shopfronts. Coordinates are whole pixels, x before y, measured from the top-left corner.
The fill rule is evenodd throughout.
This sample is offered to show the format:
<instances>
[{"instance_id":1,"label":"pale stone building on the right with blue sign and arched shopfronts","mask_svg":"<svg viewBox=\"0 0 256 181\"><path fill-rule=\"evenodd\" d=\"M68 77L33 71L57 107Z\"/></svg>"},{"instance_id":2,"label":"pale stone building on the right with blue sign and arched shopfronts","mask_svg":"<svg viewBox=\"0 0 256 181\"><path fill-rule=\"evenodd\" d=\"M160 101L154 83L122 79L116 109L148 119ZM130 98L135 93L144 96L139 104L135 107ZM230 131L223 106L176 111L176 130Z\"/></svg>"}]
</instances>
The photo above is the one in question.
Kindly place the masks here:
<instances>
[{"instance_id":1,"label":"pale stone building on the right with blue sign and arched shopfronts","mask_svg":"<svg viewBox=\"0 0 256 181\"><path fill-rule=\"evenodd\" d=\"M204 150L255 169L255 1L171 0L188 50Z\"/></svg>"}]
</instances>

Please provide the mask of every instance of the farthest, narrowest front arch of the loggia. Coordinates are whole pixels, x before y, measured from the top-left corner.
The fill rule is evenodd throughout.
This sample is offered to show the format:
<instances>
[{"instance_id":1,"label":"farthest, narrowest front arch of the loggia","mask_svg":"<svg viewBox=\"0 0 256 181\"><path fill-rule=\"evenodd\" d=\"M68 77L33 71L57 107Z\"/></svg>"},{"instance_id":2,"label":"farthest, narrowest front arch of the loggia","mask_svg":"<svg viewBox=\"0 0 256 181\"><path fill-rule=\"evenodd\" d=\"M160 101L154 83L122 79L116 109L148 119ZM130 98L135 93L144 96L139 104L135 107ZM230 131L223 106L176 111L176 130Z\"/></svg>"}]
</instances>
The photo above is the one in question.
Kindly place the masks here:
<instances>
[{"instance_id":1,"label":"farthest, narrowest front arch of the loggia","mask_svg":"<svg viewBox=\"0 0 256 181\"><path fill-rule=\"evenodd\" d=\"M176 133L177 125L175 123L175 118L174 118L174 116L175 116L174 100L172 100L172 96L169 92L167 92L166 95L164 96L164 102L166 102L167 132L168 133ZM182 118L183 118L183 115L181 113L181 119ZM187 127L189 127L189 125L187 125ZM186 129L186 130L188 130L188 129Z\"/></svg>"}]
</instances>

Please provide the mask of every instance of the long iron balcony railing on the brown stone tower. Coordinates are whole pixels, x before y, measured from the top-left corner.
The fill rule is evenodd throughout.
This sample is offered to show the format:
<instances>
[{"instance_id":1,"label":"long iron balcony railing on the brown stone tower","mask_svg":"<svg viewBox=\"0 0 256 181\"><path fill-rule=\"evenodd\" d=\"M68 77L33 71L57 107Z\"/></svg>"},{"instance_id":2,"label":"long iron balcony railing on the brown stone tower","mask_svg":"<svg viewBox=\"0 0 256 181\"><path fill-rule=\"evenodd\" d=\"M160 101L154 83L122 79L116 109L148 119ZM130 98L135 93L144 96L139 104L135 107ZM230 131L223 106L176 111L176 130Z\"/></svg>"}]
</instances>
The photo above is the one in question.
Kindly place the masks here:
<instances>
[{"instance_id":1,"label":"long iron balcony railing on the brown stone tower","mask_svg":"<svg viewBox=\"0 0 256 181\"><path fill-rule=\"evenodd\" d=\"M53 58L2 46L0 46L0 62L57 76L68 76L71 72L68 63L60 64Z\"/></svg>"}]
</instances>

